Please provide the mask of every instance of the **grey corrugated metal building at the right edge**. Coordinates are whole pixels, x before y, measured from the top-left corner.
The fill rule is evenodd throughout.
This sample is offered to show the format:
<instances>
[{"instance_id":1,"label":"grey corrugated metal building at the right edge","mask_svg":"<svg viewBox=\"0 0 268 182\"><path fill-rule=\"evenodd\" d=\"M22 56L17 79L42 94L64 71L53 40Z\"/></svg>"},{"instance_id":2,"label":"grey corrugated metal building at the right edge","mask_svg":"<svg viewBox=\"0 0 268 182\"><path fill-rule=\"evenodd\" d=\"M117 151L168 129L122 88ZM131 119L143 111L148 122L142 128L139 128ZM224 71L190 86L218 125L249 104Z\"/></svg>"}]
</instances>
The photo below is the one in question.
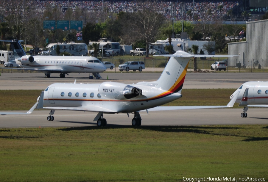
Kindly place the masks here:
<instances>
[{"instance_id":1,"label":"grey corrugated metal building at the right edge","mask_svg":"<svg viewBox=\"0 0 268 182\"><path fill-rule=\"evenodd\" d=\"M247 22L247 41L228 43L229 66L268 67L268 20ZM260 67L260 66L259 66Z\"/></svg>"}]
</instances>

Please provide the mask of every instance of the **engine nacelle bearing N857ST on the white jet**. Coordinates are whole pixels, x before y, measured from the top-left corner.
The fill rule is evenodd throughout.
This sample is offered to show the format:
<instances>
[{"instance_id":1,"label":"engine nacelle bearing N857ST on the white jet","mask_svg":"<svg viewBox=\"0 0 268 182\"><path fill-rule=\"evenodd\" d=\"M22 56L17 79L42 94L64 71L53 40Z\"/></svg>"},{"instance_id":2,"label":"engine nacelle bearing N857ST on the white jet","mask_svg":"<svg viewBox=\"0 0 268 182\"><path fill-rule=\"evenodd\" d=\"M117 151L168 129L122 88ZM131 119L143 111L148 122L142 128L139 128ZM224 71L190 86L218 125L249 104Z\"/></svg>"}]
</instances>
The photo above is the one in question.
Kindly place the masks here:
<instances>
[{"instance_id":1,"label":"engine nacelle bearing N857ST on the white jet","mask_svg":"<svg viewBox=\"0 0 268 182\"><path fill-rule=\"evenodd\" d=\"M142 90L131 85L103 82L99 86L99 94L108 99L130 99L142 95Z\"/></svg>"}]
</instances>

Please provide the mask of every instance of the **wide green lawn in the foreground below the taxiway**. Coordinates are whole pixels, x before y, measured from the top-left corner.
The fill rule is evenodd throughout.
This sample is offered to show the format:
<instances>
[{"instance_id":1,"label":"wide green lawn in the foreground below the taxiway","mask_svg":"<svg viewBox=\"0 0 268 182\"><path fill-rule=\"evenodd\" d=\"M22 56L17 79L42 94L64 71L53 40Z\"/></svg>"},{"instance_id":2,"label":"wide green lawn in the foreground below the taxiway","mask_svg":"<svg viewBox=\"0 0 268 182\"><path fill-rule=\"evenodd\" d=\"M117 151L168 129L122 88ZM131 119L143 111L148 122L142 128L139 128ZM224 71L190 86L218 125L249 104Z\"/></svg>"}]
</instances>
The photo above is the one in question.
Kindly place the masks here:
<instances>
[{"instance_id":1,"label":"wide green lawn in the foreground below the taxiway","mask_svg":"<svg viewBox=\"0 0 268 182\"><path fill-rule=\"evenodd\" d=\"M268 125L0 129L0 181L268 178Z\"/></svg>"}]
</instances>

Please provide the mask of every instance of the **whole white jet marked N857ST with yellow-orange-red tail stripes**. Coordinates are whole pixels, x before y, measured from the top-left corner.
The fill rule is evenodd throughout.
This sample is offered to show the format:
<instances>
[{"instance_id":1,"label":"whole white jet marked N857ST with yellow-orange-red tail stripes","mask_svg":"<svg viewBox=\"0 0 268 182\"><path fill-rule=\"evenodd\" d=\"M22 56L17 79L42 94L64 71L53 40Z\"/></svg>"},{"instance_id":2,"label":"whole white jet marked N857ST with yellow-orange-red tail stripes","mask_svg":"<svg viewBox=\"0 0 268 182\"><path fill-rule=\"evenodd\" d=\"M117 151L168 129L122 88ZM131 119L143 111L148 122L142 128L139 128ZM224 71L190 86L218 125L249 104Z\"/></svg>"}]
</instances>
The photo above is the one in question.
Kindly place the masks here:
<instances>
[{"instance_id":1,"label":"whole white jet marked N857ST with yellow-orange-red tail stripes","mask_svg":"<svg viewBox=\"0 0 268 182\"><path fill-rule=\"evenodd\" d=\"M133 126L141 125L139 111L159 111L177 109L205 109L232 107L236 97L227 106L160 106L181 98L181 90L186 76L189 60L192 57L215 57L215 55L191 55L184 51L163 55L171 57L160 78L152 82L123 84L103 82L97 84L54 83L41 93L37 103L27 113L35 108L50 109L47 120L54 120L56 109L98 112L94 121L98 126L105 126L103 114L126 113L134 114ZM232 56L218 56L232 57ZM157 107L159 106L159 107ZM151 108L151 109L150 109ZM14 114L14 113L0 113Z\"/></svg>"}]
</instances>

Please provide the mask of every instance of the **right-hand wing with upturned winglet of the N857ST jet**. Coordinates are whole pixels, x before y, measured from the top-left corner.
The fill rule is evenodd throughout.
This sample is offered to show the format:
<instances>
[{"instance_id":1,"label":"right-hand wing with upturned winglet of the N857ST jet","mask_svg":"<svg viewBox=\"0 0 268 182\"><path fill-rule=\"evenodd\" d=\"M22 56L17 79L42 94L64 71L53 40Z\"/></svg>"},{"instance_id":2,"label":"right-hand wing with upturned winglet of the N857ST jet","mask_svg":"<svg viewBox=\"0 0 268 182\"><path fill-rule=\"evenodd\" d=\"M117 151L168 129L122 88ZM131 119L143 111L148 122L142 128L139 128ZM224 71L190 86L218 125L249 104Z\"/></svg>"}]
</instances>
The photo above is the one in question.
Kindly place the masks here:
<instances>
[{"instance_id":1,"label":"right-hand wing with upturned winglet of the N857ST jet","mask_svg":"<svg viewBox=\"0 0 268 182\"><path fill-rule=\"evenodd\" d=\"M216 109L216 108L230 108L233 107L236 99L239 95L240 91L234 95L234 97L230 100L230 102L226 106L157 106L154 108L150 108L142 111L171 111L171 110L185 110L185 109ZM267 106L268 107L268 106Z\"/></svg>"}]
</instances>

